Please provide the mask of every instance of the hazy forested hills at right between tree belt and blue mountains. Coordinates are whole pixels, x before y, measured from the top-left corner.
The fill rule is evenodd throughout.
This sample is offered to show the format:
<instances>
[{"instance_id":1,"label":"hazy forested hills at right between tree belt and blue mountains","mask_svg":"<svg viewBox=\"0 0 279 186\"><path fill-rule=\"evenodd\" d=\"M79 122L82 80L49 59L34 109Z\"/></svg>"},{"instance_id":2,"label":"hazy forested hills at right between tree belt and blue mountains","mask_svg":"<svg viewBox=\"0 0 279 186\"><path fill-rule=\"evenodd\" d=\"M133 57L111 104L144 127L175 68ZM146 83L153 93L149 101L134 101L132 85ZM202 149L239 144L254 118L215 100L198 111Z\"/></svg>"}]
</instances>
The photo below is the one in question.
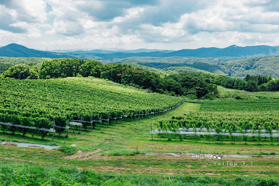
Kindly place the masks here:
<instances>
[{"instance_id":1,"label":"hazy forested hills at right between tree belt and blue mountains","mask_svg":"<svg viewBox=\"0 0 279 186\"><path fill-rule=\"evenodd\" d=\"M107 60L100 60L109 63ZM185 67L205 70L215 74L223 74L236 78L244 78L247 74L279 78L279 56L259 56L250 58L196 58L196 57L132 57L114 61L114 63L136 63L152 68L167 69L166 73L184 72ZM175 68L173 68L175 67ZM181 68L180 68L181 67Z\"/></svg>"}]
</instances>

